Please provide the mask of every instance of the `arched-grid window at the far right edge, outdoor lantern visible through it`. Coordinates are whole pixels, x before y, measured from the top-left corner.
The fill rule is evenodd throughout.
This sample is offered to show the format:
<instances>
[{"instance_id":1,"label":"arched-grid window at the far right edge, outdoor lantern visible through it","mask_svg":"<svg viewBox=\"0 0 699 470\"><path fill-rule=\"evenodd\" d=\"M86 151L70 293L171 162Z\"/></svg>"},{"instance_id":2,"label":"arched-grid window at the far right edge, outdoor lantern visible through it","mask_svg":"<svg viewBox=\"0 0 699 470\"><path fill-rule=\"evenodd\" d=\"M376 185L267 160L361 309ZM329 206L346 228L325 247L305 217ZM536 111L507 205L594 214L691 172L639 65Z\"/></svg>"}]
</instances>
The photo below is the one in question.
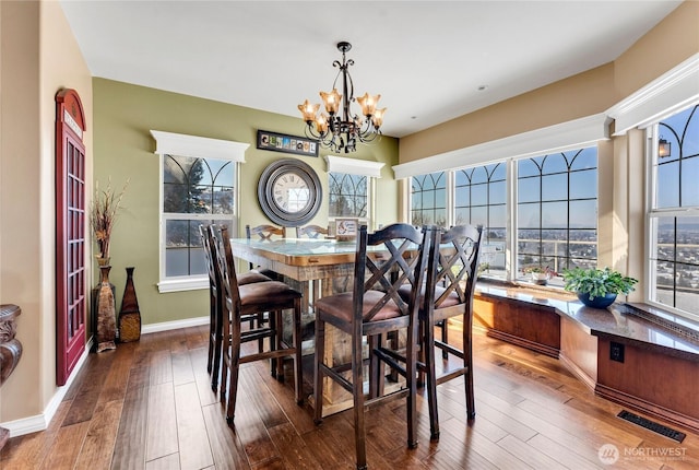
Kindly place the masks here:
<instances>
[{"instance_id":1,"label":"arched-grid window at the far right edge, outdoor lantern visible through it","mask_svg":"<svg viewBox=\"0 0 699 470\"><path fill-rule=\"evenodd\" d=\"M699 319L699 105L648 130L651 303Z\"/></svg>"}]
</instances>

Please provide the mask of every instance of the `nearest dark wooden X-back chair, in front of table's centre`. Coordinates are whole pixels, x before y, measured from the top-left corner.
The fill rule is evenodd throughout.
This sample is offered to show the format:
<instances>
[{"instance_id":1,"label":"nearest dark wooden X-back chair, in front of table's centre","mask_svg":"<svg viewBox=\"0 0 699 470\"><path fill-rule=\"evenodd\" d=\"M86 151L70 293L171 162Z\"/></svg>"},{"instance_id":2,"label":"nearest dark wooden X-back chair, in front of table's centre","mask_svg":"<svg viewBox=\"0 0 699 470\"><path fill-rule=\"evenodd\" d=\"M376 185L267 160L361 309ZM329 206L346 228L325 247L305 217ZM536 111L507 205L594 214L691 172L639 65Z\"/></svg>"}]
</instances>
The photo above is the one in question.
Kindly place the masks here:
<instances>
[{"instance_id":1,"label":"nearest dark wooden X-back chair, in front of table's centre","mask_svg":"<svg viewBox=\"0 0 699 470\"><path fill-rule=\"evenodd\" d=\"M394 396L406 396L407 445L417 445L416 419L416 354L417 304L427 266L431 228L422 232L407 224L393 224L374 234L366 225L359 228L354 269L354 291L321 297L316 303L315 357L315 414L322 421L323 381L330 377L353 396L354 430L357 469L367 467L365 411L366 407ZM382 248L376 251L370 247ZM413 295L404 302L398 289L404 283L413 286ZM352 360L350 364L325 363L325 324L350 334ZM405 359L395 360L396 353L383 344L383 336L406 329ZM363 338L369 341L369 357L363 357ZM382 364L395 368L405 378L405 388L383 396L372 393L365 398L364 364L369 366L369 389L372 381L383 375ZM351 377L347 378L347 375Z\"/></svg>"}]
</instances>

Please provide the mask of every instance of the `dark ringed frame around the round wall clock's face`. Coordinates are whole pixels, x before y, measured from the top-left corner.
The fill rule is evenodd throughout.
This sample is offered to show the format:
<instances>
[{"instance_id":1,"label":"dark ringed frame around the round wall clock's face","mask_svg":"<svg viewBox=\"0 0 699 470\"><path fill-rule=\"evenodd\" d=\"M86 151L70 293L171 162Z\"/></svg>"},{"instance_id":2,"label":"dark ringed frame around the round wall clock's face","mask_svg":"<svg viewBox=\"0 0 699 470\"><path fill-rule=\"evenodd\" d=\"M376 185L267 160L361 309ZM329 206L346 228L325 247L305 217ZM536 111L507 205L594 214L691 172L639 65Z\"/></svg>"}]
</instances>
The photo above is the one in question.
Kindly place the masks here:
<instances>
[{"instance_id":1,"label":"dark ringed frame around the round wall clock's face","mask_svg":"<svg viewBox=\"0 0 699 470\"><path fill-rule=\"evenodd\" d=\"M274 183L281 176L293 173L306 181L310 190L308 204L298 212L288 212L274 199ZM260 175L258 181L258 201L262 212L276 224L300 226L308 223L320 210L322 188L316 171L305 162L295 158L281 158L271 163Z\"/></svg>"}]
</instances>

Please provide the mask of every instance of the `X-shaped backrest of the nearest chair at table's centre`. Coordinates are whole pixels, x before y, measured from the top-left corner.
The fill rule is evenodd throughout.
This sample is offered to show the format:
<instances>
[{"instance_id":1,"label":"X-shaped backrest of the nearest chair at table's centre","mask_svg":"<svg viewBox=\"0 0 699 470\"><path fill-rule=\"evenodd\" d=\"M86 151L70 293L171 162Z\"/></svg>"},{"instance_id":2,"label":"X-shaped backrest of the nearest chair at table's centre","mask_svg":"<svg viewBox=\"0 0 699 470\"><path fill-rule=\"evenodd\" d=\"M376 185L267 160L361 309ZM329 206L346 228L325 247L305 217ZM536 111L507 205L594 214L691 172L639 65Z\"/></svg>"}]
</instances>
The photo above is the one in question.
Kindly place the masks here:
<instances>
[{"instance_id":1,"label":"X-shaped backrest of the nearest chair at table's centre","mask_svg":"<svg viewBox=\"0 0 699 470\"><path fill-rule=\"evenodd\" d=\"M390 302L398 307L398 316L417 314L417 298L423 287L423 272L427 268L433 234L433 227L420 231L402 223L389 225L372 234L367 233L366 225L359 227L353 292L354 321L371 320ZM384 250L368 249L372 246ZM399 294L399 289L406 283L412 285L408 302ZM372 294L371 298L376 302L366 310L363 299L369 291L381 292L382 296Z\"/></svg>"}]
</instances>

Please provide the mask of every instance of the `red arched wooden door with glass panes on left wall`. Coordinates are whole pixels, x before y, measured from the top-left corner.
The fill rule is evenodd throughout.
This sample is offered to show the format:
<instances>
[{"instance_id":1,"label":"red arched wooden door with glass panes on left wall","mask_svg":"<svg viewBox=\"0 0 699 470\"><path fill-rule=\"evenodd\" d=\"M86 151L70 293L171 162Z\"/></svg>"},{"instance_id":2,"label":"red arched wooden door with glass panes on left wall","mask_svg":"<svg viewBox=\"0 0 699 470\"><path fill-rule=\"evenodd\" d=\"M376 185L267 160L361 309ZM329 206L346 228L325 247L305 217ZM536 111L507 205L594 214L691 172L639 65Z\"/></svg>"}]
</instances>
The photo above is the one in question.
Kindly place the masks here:
<instances>
[{"instance_id":1,"label":"red arched wooden door with glass panes on left wall","mask_svg":"<svg viewBox=\"0 0 699 470\"><path fill-rule=\"evenodd\" d=\"M74 90L56 95L56 384L85 351L85 119Z\"/></svg>"}]
</instances>

